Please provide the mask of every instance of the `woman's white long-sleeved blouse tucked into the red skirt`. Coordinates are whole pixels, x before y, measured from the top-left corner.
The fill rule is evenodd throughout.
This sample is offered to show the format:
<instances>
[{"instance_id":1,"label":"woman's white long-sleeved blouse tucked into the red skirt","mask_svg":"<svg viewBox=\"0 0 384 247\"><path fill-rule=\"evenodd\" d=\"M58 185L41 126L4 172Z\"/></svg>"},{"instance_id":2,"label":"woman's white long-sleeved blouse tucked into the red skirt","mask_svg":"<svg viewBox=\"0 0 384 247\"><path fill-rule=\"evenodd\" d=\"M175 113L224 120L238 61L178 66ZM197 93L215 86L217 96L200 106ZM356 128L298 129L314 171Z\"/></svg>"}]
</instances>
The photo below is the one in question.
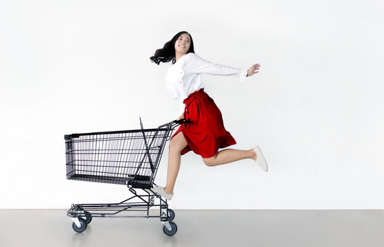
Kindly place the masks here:
<instances>
[{"instance_id":1,"label":"woman's white long-sleeved blouse tucked into the red skirt","mask_svg":"<svg viewBox=\"0 0 384 247\"><path fill-rule=\"evenodd\" d=\"M166 87L174 99L181 100L181 109L184 110L183 100L194 91L203 89L201 74L209 75L230 75L244 80L247 76L245 69L214 64L203 60L194 53L183 55L177 62L168 67L166 73Z\"/></svg>"}]
</instances>

